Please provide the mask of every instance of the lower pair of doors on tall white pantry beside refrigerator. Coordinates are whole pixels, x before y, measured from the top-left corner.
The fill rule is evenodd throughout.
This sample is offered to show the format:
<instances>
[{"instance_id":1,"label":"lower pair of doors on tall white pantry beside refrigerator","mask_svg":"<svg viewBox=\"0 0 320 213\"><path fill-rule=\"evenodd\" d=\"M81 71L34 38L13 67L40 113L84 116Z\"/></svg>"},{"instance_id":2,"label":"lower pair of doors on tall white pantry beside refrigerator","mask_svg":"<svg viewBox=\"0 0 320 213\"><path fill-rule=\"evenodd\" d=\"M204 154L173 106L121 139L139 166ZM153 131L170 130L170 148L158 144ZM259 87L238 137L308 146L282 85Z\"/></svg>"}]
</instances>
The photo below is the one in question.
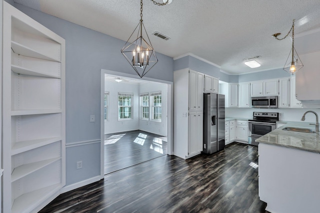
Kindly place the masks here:
<instances>
[{"instance_id":1,"label":"lower pair of doors on tall white pantry beside refrigerator","mask_svg":"<svg viewBox=\"0 0 320 213\"><path fill-rule=\"evenodd\" d=\"M189 141L188 155L194 155L202 151L203 146L203 112L189 113Z\"/></svg>"}]
</instances>

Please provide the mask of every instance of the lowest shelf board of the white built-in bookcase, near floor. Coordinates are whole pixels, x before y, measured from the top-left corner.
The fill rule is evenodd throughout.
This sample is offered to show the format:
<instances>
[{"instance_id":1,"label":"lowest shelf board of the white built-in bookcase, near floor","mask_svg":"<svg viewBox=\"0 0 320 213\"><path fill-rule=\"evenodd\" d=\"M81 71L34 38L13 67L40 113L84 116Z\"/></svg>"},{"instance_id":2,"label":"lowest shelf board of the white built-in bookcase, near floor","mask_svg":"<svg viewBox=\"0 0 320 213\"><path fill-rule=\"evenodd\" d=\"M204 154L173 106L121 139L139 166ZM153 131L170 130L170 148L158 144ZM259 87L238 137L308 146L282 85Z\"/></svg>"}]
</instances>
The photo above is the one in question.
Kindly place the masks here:
<instances>
[{"instance_id":1,"label":"lowest shelf board of the white built-in bookcase, near floor","mask_svg":"<svg viewBox=\"0 0 320 213\"><path fill-rule=\"evenodd\" d=\"M11 208L11 213L31 212L43 201L47 200L56 192L58 192L59 189L61 189L61 184L55 184L29 193L25 193L14 200Z\"/></svg>"}]
</instances>

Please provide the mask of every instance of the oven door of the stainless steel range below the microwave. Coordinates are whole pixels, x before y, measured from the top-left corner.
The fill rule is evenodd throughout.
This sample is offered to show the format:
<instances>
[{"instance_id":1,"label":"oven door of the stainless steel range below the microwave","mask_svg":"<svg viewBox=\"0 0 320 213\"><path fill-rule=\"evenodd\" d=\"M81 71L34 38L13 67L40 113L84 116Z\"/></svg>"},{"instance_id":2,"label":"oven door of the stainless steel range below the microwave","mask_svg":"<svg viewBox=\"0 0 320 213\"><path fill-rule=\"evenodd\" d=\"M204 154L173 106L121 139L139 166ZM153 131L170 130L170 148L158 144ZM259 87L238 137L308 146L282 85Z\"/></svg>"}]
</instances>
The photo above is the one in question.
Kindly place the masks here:
<instances>
[{"instance_id":1,"label":"oven door of the stainless steel range below the microwave","mask_svg":"<svg viewBox=\"0 0 320 213\"><path fill-rule=\"evenodd\" d=\"M248 143L252 145L258 145L258 142L255 142L255 139L275 130L275 123L267 123L267 122L256 122L249 121L249 135L248 135Z\"/></svg>"}]
</instances>

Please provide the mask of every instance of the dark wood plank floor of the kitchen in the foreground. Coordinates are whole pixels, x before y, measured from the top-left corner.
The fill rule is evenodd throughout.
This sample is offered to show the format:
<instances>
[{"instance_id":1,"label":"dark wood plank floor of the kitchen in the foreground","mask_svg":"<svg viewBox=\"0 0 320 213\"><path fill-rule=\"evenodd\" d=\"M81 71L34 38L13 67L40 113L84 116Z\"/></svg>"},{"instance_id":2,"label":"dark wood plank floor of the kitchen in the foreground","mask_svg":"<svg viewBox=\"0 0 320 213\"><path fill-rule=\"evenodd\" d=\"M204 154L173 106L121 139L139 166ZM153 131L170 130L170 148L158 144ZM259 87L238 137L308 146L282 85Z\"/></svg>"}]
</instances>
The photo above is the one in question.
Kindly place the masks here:
<instances>
[{"instance_id":1,"label":"dark wood plank floor of the kitchen in the foreground","mask_svg":"<svg viewBox=\"0 0 320 213\"><path fill-rule=\"evenodd\" d=\"M267 213L258 197L257 147L232 143L188 160L162 156L64 193L41 213Z\"/></svg>"}]
</instances>

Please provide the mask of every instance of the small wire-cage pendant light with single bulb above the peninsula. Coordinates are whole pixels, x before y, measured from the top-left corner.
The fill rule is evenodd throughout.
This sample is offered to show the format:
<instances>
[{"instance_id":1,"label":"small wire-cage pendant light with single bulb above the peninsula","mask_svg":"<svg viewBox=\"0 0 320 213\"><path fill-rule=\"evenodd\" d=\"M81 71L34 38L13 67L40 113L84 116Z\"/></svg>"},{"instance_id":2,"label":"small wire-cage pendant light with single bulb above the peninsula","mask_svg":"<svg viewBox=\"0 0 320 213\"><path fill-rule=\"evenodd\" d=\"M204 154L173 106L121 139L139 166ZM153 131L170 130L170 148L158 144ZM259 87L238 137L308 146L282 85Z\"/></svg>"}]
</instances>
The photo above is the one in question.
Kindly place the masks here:
<instances>
[{"instance_id":1,"label":"small wire-cage pendant light with single bulb above the peninsula","mask_svg":"<svg viewBox=\"0 0 320 213\"><path fill-rule=\"evenodd\" d=\"M277 37L281 33L275 33L272 35L272 37L275 37L275 39L282 40L282 39L286 38L288 36L288 34L292 31L292 47L291 47L291 51L285 61L284 67L283 67L283 69L286 72L290 73L291 75L293 75L295 72L297 72L299 69L301 69L303 67L302 62L294 49L294 20L295 19L293 19L291 29L283 38Z\"/></svg>"}]
</instances>

